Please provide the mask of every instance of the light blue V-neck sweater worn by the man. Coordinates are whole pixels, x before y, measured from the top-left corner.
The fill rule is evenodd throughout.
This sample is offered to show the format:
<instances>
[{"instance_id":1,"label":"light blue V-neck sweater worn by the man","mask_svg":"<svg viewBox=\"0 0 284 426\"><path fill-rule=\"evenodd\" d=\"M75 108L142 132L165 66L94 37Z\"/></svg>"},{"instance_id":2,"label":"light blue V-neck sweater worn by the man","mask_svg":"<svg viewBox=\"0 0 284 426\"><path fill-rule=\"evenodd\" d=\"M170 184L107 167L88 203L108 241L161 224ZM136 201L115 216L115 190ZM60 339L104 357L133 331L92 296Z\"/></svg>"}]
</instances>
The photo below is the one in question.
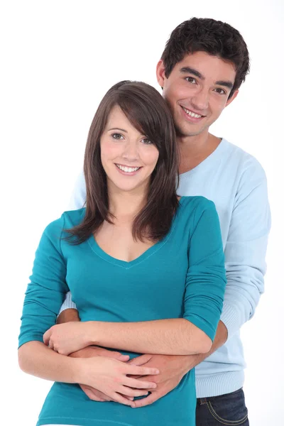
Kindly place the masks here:
<instances>
[{"instance_id":1,"label":"light blue V-neck sweater worn by the man","mask_svg":"<svg viewBox=\"0 0 284 426\"><path fill-rule=\"evenodd\" d=\"M226 265L222 322L228 340L195 368L197 398L234 392L244 384L243 346L239 331L253 317L266 272L266 246L271 227L266 175L258 161L225 139L200 165L180 175L179 195L202 195L219 214ZM71 208L85 202L80 175ZM68 293L62 310L76 307Z\"/></svg>"}]
</instances>

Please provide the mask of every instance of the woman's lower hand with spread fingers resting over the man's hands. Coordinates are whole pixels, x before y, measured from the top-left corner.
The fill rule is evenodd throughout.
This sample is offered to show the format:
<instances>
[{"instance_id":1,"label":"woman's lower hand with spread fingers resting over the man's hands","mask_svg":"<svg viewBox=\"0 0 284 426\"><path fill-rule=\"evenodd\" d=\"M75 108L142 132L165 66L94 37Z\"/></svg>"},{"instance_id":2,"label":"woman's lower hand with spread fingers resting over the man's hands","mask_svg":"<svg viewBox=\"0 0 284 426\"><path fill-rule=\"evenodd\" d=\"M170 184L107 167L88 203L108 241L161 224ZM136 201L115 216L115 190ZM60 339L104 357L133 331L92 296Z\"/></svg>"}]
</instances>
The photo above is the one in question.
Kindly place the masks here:
<instances>
[{"instance_id":1,"label":"woman's lower hand with spread fingers resting over the man's hands","mask_svg":"<svg viewBox=\"0 0 284 426\"><path fill-rule=\"evenodd\" d=\"M159 373L157 368L134 366L104 356L80 361L82 368L78 371L78 383L97 389L117 403L134 406L133 401L127 398L148 395L148 389L157 386L151 381L128 377L156 375Z\"/></svg>"}]
</instances>

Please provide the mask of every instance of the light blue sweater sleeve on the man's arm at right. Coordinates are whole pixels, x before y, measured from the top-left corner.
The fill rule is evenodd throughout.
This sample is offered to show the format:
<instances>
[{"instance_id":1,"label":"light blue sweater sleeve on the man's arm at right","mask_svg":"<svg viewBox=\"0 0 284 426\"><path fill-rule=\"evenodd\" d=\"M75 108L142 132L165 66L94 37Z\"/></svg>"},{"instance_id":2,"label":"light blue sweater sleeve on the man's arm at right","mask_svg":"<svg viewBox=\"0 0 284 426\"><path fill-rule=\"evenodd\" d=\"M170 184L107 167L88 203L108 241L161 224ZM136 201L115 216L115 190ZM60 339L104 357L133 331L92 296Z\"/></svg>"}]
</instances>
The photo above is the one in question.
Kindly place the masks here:
<instances>
[{"instance_id":1,"label":"light blue sweater sleeve on the man's arm at right","mask_svg":"<svg viewBox=\"0 0 284 426\"><path fill-rule=\"evenodd\" d=\"M227 285L221 320L228 339L251 319L263 293L270 228L266 175L256 160L248 160L224 249Z\"/></svg>"}]
</instances>

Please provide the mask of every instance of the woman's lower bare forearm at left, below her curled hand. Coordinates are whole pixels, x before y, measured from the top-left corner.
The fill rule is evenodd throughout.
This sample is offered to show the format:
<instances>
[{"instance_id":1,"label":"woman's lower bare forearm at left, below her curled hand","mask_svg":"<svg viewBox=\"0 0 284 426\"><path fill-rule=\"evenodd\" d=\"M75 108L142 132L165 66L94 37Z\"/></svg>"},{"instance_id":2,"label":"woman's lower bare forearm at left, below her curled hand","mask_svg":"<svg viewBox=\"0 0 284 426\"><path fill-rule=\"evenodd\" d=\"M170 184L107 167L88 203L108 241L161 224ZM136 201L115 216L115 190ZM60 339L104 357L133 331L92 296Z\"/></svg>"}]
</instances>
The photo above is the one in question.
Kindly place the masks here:
<instances>
[{"instance_id":1,"label":"woman's lower bare forearm at left, below her curled hand","mask_svg":"<svg viewBox=\"0 0 284 426\"><path fill-rule=\"evenodd\" d=\"M80 359L69 358L42 342L27 342L18 349L18 364L25 373L50 381L78 383Z\"/></svg>"}]
</instances>

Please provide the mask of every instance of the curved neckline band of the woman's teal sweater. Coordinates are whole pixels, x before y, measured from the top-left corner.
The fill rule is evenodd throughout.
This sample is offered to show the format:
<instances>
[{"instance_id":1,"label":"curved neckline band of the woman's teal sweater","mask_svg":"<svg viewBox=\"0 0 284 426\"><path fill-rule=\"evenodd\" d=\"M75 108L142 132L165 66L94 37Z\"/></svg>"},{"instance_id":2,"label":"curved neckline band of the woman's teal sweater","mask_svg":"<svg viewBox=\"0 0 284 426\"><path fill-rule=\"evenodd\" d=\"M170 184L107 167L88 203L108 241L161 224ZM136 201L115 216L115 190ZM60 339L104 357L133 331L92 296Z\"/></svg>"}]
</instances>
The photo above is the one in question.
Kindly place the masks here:
<instances>
[{"instance_id":1,"label":"curved neckline band of the woman's teal sweater","mask_svg":"<svg viewBox=\"0 0 284 426\"><path fill-rule=\"evenodd\" d=\"M184 198L185 197L180 197L178 209L182 206L182 202ZM178 212L178 209L177 209L177 212ZM168 232L168 234L163 239L153 244L153 246L146 249L146 251L143 251L143 253L141 253L141 255L138 256L137 258L133 259L133 261L129 261L129 262L121 261L121 259L110 256L106 251L101 249L99 244L97 244L97 241L94 238L93 234L89 236L89 239L87 240L87 242L90 248L92 249L92 251L94 251L94 253L96 253L97 256L102 258L104 261L112 263L115 266L120 266L121 268L130 269L133 266L137 266L139 263L145 261L150 256L153 256L153 254L156 253L158 250L160 250L160 248L163 247L163 245L168 241L168 239L170 238L170 235L173 232L173 229L175 228L175 219L176 219L177 212L175 213L175 216L173 217L173 221L170 226L170 231Z\"/></svg>"}]
</instances>

